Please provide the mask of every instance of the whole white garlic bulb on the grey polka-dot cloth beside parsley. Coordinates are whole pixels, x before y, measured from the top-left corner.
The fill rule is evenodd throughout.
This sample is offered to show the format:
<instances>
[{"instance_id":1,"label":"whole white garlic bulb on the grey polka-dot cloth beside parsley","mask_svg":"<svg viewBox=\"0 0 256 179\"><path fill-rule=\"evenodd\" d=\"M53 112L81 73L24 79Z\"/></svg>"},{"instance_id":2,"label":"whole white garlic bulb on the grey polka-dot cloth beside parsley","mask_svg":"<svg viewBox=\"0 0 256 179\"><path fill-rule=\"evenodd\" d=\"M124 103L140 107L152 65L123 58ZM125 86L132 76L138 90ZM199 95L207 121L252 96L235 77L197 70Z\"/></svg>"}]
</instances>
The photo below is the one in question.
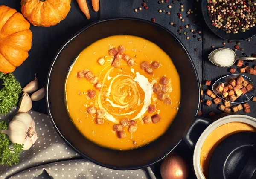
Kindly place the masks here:
<instances>
[{"instance_id":1,"label":"whole white garlic bulb on the grey polka-dot cloth beside parsley","mask_svg":"<svg viewBox=\"0 0 256 179\"><path fill-rule=\"evenodd\" d=\"M8 136L13 144L23 144L23 150L29 150L37 139L35 121L28 113L18 113L9 123Z\"/></svg>"}]
</instances>

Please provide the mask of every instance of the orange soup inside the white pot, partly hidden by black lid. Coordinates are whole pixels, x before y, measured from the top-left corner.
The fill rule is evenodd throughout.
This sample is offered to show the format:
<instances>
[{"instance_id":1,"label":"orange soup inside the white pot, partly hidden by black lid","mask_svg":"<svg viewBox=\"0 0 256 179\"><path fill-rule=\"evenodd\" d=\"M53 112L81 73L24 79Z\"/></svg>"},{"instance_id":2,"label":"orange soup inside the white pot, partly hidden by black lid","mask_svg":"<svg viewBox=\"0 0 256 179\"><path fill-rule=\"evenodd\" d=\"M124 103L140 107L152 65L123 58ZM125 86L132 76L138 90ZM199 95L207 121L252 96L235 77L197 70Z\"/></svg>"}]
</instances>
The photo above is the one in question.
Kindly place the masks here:
<instances>
[{"instance_id":1,"label":"orange soup inside the white pot, partly hidden by black lid","mask_svg":"<svg viewBox=\"0 0 256 179\"><path fill-rule=\"evenodd\" d=\"M201 168L206 178L208 178L208 168L212 153L218 144L220 144L221 141L226 139L228 136L244 131L256 132L256 129L249 124L230 122L216 128L212 131L212 133L209 134L204 141L200 154Z\"/></svg>"}]
</instances>

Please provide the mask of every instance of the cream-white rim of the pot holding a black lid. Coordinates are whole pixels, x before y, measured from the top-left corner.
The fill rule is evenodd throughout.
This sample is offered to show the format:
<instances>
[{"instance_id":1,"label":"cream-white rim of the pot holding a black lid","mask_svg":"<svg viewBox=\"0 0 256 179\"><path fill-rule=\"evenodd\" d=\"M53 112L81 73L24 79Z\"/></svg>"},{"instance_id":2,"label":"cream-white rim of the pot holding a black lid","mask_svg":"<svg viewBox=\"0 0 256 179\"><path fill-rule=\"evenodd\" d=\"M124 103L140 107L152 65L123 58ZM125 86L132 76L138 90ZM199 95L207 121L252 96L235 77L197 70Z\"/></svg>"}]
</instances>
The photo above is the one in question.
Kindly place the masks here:
<instances>
[{"instance_id":1,"label":"cream-white rim of the pot holding a black lid","mask_svg":"<svg viewBox=\"0 0 256 179\"><path fill-rule=\"evenodd\" d=\"M213 130L217 129L218 127L224 124L231 122L241 122L249 124L252 127L256 128L256 118L243 114L227 115L223 118L219 118L218 120L210 124L199 137L197 143L195 144L195 150L193 153L193 166L195 170L195 175L198 179L205 179L200 162L201 148L204 144L204 141L207 139L209 134L212 133Z\"/></svg>"}]
</instances>

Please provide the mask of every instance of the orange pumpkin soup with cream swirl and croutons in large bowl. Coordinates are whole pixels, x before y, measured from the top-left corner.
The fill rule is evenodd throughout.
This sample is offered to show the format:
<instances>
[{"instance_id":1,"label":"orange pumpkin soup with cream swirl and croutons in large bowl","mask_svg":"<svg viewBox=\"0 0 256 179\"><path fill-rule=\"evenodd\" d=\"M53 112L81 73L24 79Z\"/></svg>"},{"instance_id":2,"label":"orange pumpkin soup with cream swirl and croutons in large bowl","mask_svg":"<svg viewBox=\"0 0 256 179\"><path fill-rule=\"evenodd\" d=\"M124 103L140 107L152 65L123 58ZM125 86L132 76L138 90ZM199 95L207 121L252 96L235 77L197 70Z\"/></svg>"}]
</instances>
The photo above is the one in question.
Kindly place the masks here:
<instances>
[{"instance_id":1,"label":"orange pumpkin soup with cream swirl and croutons in large bowl","mask_svg":"<svg viewBox=\"0 0 256 179\"><path fill-rule=\"evenodd\" d=\"M168 129L180 105L180 78L156 44L117 35L78 55L67 75L65 97L73 124L87 139L131 150Z\"/></svg>"}]
</instances>

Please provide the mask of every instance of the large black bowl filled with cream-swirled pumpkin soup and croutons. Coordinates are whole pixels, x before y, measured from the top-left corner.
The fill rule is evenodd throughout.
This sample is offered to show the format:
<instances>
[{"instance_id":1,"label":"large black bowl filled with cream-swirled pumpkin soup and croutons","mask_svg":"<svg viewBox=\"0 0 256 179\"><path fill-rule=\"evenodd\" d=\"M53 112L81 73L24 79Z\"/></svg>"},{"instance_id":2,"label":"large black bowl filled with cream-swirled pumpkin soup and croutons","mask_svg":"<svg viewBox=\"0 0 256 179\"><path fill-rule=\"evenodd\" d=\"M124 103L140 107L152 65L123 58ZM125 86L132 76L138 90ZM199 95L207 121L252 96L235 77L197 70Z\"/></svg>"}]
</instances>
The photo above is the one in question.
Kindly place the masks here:
<instances>
[{"instance_id":1,"label":"large black bowl filled with cream-swirled pumpkin soup and croutons","mask_svg":"<svg viewBox=\"0 0 256 179\"><path fill-rule=\"evenodd\" d=\"M180 40L132 18L81 29L55 56L47 81L48 112L61 137L84 158L117 170L168 155L196 115L199 94Z\"/></svg>"}]
</instances>

